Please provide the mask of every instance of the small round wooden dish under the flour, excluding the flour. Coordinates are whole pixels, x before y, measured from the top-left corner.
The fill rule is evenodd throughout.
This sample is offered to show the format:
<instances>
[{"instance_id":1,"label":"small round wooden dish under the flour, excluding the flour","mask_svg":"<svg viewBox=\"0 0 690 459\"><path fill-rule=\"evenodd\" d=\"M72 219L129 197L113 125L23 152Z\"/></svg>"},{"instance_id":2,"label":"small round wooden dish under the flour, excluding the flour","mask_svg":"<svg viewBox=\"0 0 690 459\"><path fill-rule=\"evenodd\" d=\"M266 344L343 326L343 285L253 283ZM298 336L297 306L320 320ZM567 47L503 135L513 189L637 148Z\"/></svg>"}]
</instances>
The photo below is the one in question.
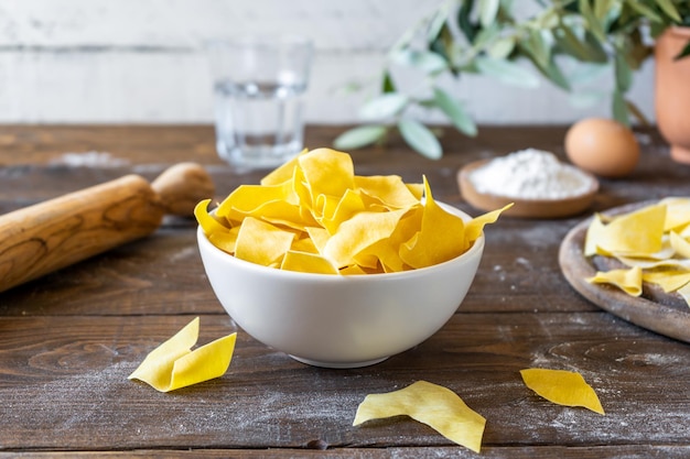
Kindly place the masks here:
<instances>
[{"instance_id":1,"label":"small round wooden dish under the flour, excluding the flour","mask_svg":"<svg viewBox=\"0 0 690 459\"><path fill-rule=\"evenodd\" d=\"M592 185L585 193L569 198L521 199L479 193L472 184L470 174L488 163L488 161L490 160L472 162L457 173L460 193L467 203L479 210L490 211L514 203L515 205L506 210L504 215L520 218L562 218L586 210L592 205L596 192L599 192L599 181L593 175L583 172L591 178Z\"/></svg>"}]
</instances>

